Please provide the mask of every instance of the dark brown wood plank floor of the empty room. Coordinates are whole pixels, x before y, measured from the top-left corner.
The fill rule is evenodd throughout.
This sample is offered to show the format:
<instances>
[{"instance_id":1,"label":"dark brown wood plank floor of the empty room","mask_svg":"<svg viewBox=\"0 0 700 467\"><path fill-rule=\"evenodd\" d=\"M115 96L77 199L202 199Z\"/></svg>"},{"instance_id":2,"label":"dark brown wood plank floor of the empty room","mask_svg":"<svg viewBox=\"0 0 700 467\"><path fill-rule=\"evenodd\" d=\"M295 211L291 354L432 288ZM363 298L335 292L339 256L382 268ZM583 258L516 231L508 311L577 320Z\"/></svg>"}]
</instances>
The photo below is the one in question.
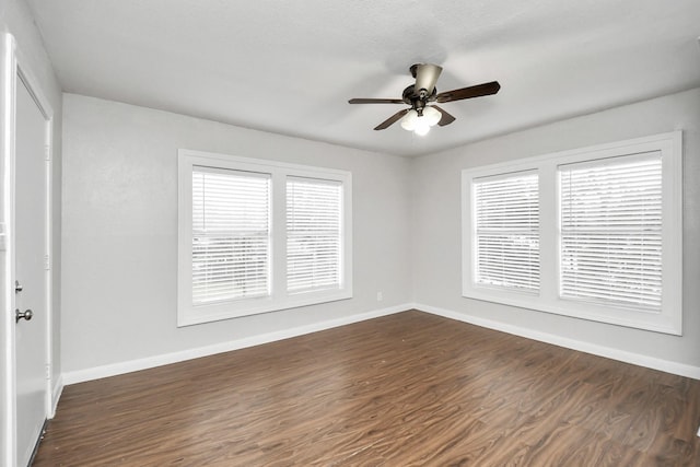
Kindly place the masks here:
<instances>
[{"instance_id":1,"label":"dark brown wood plank floor of the empty room","mask_svg":"<svg viewBox=\"0 0 700 467\"><path fill-rule=\"evenodd\" d=\"M699 423L698 381L407 312L68 386L34 465L699 466Z\"/></svg>"}]
</instances>

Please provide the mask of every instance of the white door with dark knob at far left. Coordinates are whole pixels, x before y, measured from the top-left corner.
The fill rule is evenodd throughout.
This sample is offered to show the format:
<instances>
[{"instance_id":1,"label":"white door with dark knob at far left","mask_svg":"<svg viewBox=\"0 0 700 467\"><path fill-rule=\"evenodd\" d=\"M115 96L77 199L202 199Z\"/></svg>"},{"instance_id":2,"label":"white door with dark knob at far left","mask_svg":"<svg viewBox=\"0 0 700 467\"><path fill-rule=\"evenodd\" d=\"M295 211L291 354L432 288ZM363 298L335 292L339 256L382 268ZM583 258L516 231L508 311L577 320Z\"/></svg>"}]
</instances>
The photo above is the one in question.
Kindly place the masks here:
<instances>
[{"instance_id":1,"label":"white door with dark knob at far left","mask_svg":"<svg viewBox=\"0 0 700 467\"><path fill-rule=\"evenodd\" d=\"M47 122L19 77L16 90L16 454L26 466L47 415Z\"/></svg>"}]
</instances>

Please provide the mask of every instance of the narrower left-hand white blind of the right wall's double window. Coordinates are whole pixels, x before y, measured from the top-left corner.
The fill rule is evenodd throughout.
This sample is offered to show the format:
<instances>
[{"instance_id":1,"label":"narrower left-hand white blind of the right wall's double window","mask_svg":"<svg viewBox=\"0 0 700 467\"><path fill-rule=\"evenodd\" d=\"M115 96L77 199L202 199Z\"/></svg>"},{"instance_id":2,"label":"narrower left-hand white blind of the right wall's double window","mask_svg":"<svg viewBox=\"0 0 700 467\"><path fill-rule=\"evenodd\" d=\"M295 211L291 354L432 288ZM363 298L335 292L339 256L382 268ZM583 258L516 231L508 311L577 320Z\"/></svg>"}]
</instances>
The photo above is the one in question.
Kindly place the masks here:
<instances>
[{"instance_id":1,"label":"narrower left-hand white blind of the right wall's double window","mask_svg":"<svg viewBox=\"0 0 700 467\"><path fill-rule=\"evenodd\" d=\"M475 179L477 284L539 290L539 192L534 173Z\"/></svg>"}]
</instances>

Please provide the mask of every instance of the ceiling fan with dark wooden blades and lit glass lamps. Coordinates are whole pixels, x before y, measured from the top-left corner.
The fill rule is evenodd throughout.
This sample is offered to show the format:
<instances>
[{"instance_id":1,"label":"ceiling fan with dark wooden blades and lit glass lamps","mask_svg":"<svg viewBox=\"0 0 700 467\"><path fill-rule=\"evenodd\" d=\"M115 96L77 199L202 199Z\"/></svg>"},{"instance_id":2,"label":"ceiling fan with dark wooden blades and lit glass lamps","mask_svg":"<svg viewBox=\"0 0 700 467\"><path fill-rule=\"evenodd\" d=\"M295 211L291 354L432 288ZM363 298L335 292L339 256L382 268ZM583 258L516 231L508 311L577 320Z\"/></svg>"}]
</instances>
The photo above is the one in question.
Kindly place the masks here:
<instances>
[{"instance_id":1,"label":"ceiling fan with dark wooden blades and lit glass lamps","mask_svg":"<svg viewBox=\"0 0 700 467\"><path fill-rule=\"evenodd\" d=\"M401 120L401 127L418 135L425 135L432 126L444 127L455 121L455 117L432 104L436 102L462 101L471 97L481 97L499 92L501 85L498 81L462 87L458 90L438 93L435 83L442 72L442 67L431 63L416 63L410 68L411 75L416 78L416 84L411 84L404 90L401 98L351 98L350 104L407 104L410 108L405 108L382 121L374 129L384 130ZM429 105L431 104L431 105Z\"/></svg>"}]
</instances>

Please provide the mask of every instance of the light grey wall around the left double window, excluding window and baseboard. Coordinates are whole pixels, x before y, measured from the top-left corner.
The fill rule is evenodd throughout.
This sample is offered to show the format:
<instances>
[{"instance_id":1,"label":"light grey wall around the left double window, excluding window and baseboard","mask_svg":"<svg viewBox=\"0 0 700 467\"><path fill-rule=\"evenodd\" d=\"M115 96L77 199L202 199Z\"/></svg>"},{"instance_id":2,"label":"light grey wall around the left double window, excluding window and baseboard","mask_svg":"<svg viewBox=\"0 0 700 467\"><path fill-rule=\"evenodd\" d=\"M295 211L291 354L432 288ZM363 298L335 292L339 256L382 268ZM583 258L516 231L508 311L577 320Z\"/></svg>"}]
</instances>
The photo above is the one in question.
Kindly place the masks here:
<instances>
[{"instance_id":1,"label":"light grey wall around the left double window, excluding window and baseboard","mask_svg":"<svg viewBox=\"0 0 700 467\"><path fill-rule=\"evenodd\" d=\"M353 299L177 328L178 148L352 172ZM406 159L74 94L63 95L63 154L66 373L411 301Z\"/></svg>"}]
</instances>

